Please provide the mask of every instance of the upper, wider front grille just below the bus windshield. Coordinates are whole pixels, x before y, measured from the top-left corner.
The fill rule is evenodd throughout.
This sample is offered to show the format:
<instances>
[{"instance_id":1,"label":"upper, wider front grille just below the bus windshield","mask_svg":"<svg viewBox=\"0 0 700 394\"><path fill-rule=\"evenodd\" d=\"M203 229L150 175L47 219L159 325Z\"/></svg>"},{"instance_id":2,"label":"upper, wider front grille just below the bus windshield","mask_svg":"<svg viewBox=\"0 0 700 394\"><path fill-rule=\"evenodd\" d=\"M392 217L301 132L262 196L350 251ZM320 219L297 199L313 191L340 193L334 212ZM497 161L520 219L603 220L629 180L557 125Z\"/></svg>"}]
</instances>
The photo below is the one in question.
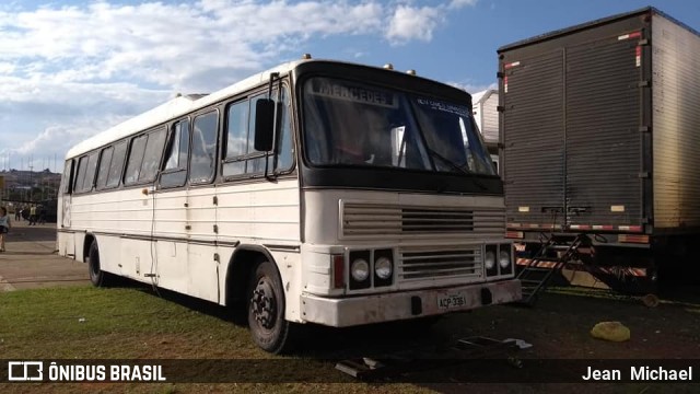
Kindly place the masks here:
<instances>
[{"instance_id":1,"label":"upper, wider front grille just below the bus windshield","mask_svg":"<svg viewBox=\"0 0 700 394\"><path fill-rule=\"evenodd\" d=\"M505 216L500 208L413 207L342 204L343 236L502 234Z\"/></svg>"}]
</instances>

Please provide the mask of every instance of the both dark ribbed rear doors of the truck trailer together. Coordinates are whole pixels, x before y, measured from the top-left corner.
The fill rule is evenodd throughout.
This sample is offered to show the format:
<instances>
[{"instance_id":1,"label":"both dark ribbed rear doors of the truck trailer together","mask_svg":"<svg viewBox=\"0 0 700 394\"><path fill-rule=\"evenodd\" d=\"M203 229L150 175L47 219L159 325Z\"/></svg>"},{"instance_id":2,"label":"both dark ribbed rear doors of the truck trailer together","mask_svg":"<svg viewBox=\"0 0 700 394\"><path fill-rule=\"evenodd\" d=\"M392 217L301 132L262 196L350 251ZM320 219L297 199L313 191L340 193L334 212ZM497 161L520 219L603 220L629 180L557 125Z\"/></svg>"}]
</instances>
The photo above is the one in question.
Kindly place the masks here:
<instances>
[{"instance_id":1,"label":"both dark ribbed rear doors of the truck trailer together","mask_svg":"<svg viewBox=\"0 0 700 394\"><path fill-rule=\"evenodd\" d=\"M510 227L641 224L641 62L639 35L627 33L544 54L525 50L522 59L506 54L502 154Z\"/></svg>"}]
</instances>

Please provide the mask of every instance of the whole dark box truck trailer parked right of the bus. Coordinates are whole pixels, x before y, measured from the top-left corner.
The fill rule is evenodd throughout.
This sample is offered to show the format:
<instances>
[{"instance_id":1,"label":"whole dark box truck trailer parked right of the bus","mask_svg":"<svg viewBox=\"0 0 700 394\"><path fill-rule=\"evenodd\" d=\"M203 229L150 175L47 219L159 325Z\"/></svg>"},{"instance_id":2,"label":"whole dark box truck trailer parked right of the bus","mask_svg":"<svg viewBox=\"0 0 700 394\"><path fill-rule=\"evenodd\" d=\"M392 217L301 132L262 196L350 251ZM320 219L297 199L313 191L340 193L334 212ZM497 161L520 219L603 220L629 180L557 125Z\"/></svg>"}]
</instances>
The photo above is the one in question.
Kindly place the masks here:
<instances>
[{"instance_id":1,"label":"whole dark box truck trailer parked right of the bus","mask_svg":"<svg viewBox=\"0 0 700 394\"><path fill-rule=\"evenodd\" d=\"M644 8L498 54L518 264L575 256L608 285L653 285L700 239L700 34Z\"/></svg>"}]
</instances>

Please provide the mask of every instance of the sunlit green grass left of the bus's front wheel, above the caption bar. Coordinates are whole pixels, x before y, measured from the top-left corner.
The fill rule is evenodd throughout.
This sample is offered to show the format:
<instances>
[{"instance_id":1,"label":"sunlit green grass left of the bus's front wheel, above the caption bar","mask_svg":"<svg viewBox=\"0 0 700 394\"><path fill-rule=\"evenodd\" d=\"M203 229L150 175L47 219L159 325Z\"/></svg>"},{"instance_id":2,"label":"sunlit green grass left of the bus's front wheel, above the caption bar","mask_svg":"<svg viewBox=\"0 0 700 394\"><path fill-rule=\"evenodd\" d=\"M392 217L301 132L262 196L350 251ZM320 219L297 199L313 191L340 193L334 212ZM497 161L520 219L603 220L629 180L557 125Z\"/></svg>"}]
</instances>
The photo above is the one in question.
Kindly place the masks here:
<instances>
[{"instance_id":1,"label":"sunlit green grass left of the bus's front wheel, above the caption bar","mask_svg":"<svg viewBox=\"0 0 700 394\"><path fill-rule=\"evenodd\" d=\"M52 288L0 298L0 340L8 357L143 358L153 356L153 346L161 358L176 356L168 348L194 358L202 355L201 347L235 347L241 358L265 357L243 327L145 289ZM223 338L228 346L221 348L215 343Z\"/></svg>"}]
</instances>

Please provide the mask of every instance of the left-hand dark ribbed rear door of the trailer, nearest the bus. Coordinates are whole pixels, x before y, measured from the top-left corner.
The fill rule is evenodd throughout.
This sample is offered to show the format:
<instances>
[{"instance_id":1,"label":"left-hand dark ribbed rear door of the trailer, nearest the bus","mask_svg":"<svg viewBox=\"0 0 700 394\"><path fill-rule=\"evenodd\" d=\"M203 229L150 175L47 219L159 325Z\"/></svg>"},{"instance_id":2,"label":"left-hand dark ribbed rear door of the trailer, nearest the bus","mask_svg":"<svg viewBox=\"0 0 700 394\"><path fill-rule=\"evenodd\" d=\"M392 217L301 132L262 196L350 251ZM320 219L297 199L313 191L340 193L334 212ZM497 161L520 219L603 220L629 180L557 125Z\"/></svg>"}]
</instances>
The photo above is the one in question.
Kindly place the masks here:
<instances>
[{"instance_id":1,"label":"left-hand dark ribbed rear door of the trailer, nearest the bus","mask_svg":"<svg viewBox=\"0 0 700 394\"><path fill-rule=\"evenodd\" d=\"M509 221L563 224L563 50L504 65L502 160Z\"/></svg>"}]
</instances>

